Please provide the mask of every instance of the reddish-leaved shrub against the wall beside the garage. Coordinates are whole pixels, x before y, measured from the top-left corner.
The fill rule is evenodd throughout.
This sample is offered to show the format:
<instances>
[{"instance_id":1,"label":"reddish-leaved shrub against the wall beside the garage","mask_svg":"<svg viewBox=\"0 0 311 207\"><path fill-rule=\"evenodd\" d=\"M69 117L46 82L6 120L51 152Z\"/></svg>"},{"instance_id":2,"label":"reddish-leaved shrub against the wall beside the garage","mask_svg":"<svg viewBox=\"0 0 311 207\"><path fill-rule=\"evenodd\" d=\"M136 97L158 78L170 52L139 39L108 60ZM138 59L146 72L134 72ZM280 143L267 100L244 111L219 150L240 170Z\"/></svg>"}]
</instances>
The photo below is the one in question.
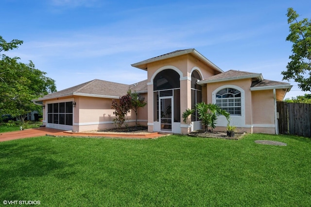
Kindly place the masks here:
<instances>
[{"instance_id":1,"label":"reddish-leaved shrub against the wall beside the garage","mask_svg":"<svg viewBox=\"0 0 311 207\"><path fill-rule=\"evenodd\" d=\"M114 115L116 115L116 118L113 119L116 126L120 129L123 124L127 127L126 124L126 114L131 111L132 108L132 97L130 94L126 94L119 98L119 102L117 100L112 100L111 108L115 109L113 112Z\"/></svg>"}]
</instances>

